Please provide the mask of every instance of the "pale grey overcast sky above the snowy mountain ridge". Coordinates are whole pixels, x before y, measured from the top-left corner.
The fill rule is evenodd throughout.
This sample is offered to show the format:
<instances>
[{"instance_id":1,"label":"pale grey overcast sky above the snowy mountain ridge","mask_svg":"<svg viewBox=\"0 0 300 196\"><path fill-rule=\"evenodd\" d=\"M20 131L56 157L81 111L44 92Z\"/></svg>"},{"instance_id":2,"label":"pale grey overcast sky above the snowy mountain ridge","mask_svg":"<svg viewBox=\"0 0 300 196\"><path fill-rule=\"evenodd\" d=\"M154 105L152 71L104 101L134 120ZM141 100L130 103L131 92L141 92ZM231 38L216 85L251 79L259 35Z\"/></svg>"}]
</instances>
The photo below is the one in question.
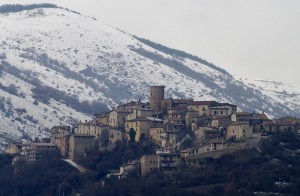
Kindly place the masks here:
<instances>
[{"instance_id":1,"label":"pale grey overcast sky above the snowy mountain ridge","mask_svg":"<svg viewBox=\"0 0 300 196\"><path fill-rule=\"evenodd\" d=\"M54 3L232 74L300 86L299 0L0 0Z\"/></svg>"}]
</instances>

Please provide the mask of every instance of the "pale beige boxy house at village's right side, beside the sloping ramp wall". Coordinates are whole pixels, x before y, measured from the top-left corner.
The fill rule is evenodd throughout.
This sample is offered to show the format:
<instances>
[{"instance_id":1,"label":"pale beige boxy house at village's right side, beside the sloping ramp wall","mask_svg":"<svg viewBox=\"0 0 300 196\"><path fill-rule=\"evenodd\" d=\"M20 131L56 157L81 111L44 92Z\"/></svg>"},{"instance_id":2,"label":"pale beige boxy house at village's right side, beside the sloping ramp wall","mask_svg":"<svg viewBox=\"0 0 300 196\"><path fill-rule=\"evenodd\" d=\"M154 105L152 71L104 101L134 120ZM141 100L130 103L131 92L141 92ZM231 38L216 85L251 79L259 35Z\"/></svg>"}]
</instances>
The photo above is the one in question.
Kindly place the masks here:
<instances>
[{"instance_id":1,"label":"pale beige boxy house at village's right side, beside the sloping ramp wall","mask_svg":"<svg viewBox=\"0 0 300 196\"><path fill-rule=\"evenodd\" d=\"M239 122L231 123L227 127L226 138L227 139L247 139L253 137L253 126L249 123Z\"/></svg>"}]
</instances>

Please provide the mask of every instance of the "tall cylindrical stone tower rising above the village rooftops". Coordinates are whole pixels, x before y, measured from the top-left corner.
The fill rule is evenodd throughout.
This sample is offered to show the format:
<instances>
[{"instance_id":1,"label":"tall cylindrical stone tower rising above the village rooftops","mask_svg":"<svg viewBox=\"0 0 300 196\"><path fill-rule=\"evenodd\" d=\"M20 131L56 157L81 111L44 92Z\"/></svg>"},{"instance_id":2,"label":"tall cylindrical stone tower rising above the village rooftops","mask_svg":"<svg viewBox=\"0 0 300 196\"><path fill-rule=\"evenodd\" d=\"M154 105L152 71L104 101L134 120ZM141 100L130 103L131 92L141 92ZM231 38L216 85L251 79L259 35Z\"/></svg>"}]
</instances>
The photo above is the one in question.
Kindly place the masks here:
<instances>
[{"instance_id":1,"label":"tall cylindrical stone tower rising above the village rooftops","mask_svg":"<svg viewBox=\"0 0 300 196\"><path fill-rule=\"evenodd\" d=\"M150 86L150 107L161 111L161 101L165 98L165 86Z\"/></svg>"}]
</instances>

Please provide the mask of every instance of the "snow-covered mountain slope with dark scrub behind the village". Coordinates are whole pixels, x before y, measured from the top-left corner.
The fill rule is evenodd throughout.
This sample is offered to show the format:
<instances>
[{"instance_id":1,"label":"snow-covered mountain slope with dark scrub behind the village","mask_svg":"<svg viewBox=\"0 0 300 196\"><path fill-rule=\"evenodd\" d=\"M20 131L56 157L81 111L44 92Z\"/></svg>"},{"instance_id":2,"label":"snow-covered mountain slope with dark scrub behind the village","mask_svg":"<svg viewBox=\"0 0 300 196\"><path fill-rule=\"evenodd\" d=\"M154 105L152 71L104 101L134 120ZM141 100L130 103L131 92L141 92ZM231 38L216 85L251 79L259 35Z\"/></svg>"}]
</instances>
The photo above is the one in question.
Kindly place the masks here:
<instances>
[{"instance_id":1,"label":"snow-covered mountain slope with dark scrub behind the village","mask_svg":"<svg viewBox=\"0 0 300 196\"><path fill-rule=\"evenodd\" d=\"M165 85L167 97L230 102L272 116L300 115L299 87L234 77L201 58L96 19L37 7L0 14L2 146L48 135L54 125L90 119L129 100L147 101L150 85Z\"/></svg>"}]
</instances>

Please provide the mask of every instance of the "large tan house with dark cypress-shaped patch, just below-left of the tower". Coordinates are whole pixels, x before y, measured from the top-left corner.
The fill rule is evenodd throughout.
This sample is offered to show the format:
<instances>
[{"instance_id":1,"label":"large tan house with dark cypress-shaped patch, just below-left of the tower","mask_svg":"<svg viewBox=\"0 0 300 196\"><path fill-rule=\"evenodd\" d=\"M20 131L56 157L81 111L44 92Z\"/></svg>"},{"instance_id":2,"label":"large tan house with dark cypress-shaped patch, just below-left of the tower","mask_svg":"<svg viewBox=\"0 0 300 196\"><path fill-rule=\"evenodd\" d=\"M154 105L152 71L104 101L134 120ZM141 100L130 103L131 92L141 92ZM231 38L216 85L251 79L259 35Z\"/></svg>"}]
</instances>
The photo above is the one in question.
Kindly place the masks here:
<instances>
[{"instance_id":1,"label":"large tan house with dark cypress-shaped patch, just below-left of the tower","mask_svg":"<svg viewBox=\"0 0 300 196\"><path fill-rule=\"evenodd\" d=\"M135 141L139 142L140 139L150 138L150 127L162 124L163 120L153 117L141 117L125 122L126 133L129 133L130 129L134 129L136 132ZM129 135L127 134L127 138Z\"/></svg>"}]
</instances>

